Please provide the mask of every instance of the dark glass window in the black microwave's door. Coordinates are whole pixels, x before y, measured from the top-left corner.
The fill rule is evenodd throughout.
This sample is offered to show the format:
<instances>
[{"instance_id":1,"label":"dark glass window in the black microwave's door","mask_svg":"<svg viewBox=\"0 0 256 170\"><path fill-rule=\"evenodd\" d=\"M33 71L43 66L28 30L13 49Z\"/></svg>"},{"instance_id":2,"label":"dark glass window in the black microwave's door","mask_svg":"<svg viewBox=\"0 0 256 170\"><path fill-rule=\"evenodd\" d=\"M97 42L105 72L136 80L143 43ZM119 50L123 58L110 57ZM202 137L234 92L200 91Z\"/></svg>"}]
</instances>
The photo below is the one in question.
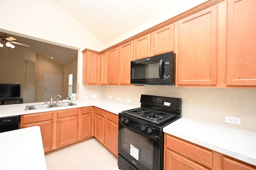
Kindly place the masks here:
<instances>
[{"instance_id":1,"label":"dark glass window in the black microwave's door","mask_svg":"<svg viewBox=\"0 0 256 170\"><path fill-rule=\"evenodd\" d=\"M134 66L133 70L134 70L134 75L133 75L134 79L160 78L159 63Z\"/></svg>"}]
</instances>

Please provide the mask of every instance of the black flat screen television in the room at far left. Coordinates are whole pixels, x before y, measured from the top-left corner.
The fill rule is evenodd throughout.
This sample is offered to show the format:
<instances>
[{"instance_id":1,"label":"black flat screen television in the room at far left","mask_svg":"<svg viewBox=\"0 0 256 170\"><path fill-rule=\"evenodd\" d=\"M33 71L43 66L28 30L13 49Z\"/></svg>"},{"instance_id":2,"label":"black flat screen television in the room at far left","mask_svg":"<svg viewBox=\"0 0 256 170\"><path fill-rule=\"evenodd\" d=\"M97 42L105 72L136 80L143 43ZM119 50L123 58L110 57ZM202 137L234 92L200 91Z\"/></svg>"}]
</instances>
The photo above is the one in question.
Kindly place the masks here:
<instances>
[{"instance_id":1,"label":"black flat screen television in the room at far left","mask_svg":"<svg viewBox=\"0 0 256 170\"><path fill-rule=\"evenodd\" d=\"M20 98L20 84L0 84L0 98Z\"/></svg>"}]
</instances>

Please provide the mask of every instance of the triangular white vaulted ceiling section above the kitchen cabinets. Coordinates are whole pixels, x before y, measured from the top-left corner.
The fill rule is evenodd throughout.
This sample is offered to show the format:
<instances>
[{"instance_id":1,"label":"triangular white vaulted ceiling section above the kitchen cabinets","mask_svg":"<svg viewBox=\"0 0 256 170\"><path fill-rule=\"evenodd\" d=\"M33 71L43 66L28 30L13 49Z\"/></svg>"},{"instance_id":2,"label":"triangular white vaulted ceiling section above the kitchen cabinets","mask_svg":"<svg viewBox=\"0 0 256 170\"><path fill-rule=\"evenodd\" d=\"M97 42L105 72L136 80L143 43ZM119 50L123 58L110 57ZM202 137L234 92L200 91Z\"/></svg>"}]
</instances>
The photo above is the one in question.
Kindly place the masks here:
<instances>
[{"instance_id":1,"label":"triangular white vaulted ceiling section above the kitchen cabinets","mask_svg":"<svg viewBox=\"0 0 256 170\"><path fill-rule=\"evenodd\" d=\"M54 1L63 6L103 44L106 44L191 0Z\"/></svg>"}]
</instances>

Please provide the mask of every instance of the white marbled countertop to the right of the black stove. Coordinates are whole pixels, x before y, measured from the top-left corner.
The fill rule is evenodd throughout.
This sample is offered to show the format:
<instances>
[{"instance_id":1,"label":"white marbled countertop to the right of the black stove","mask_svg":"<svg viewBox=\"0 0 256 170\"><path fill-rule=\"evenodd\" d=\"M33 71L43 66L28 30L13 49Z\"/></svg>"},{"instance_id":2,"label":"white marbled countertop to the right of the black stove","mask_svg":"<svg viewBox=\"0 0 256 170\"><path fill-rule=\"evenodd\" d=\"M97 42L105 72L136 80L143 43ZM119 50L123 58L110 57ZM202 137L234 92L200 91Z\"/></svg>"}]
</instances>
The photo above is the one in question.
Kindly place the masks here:
<instances>
[{"instance_id":1,"label":"white marbled countertop to the right of the black stove","mask_svg":"<svg viewBox=\"0 0 256 170\"><path fill-rule=\"evenodd\" d=\"M256 166L256 133L182 117L164 132Z\"/></svg>"}]
</instances>

